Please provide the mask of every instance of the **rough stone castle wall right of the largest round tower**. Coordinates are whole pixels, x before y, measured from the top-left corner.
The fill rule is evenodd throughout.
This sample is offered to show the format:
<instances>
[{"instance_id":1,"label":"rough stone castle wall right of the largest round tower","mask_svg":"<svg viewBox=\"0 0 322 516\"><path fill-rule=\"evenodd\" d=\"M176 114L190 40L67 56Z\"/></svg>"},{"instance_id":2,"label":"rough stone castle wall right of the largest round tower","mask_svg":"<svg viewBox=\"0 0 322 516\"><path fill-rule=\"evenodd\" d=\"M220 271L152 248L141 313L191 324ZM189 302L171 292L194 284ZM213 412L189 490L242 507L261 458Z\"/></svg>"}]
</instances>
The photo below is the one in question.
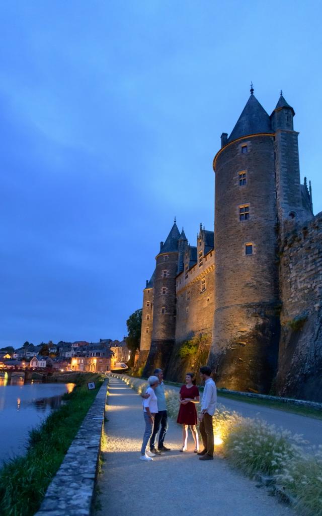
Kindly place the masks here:
<instances>
[{"instance_id":1,"label":"rough stone castle wall right of the largest round tower","mask_svg":"<svg viewBox=\"0 0 322 516\"><path fill-rule=\"evenodd\" d=\"M322 212L284 240L277 391L322 401Z\"/></svg>"}]
</instances>

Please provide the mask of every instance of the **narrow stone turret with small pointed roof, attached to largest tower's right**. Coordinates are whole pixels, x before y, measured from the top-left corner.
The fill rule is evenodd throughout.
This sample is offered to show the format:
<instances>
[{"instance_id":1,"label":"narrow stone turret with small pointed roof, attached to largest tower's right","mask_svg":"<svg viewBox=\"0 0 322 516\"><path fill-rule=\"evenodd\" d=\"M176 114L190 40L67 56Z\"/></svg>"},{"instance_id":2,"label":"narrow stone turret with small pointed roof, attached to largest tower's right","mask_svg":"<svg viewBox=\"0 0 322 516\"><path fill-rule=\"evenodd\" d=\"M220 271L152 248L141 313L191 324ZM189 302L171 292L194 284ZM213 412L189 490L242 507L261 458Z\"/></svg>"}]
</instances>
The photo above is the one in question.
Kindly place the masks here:
<instances>
[{"instance_id":1,"label":"narrow stone turret with small pointed roof, attached to largest tower's right","mask_svg":"<svg viewBox=\"0 0 322 516\"><path fill-rule=\"evenodd\" d=\"M312 218L307 206L306 188L300 183L298 134L293 128L295 112L287 104L282 92L270 119L275 131L275 168L278 218L283 235L285 221L304 221Z\"/></svg>"}]
</instances>

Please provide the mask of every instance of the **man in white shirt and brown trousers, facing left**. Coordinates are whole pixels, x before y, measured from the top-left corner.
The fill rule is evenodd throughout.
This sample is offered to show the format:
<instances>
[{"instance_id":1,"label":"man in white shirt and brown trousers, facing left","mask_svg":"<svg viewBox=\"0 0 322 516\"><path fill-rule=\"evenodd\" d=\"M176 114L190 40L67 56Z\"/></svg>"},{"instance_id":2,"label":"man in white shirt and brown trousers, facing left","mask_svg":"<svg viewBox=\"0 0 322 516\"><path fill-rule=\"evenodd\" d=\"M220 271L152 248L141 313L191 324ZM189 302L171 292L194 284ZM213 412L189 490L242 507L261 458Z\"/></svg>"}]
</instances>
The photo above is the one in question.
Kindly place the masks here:
<instances>
[{"instance_id":1,"label":"man in white shirt and brown trousers, facing left","mask_svg":"<svg viewBox=\"0 0 322 516\"><path fill-rule=\"evenodd\" d=\"M207 365L200 367L200 378L205 381L205 390L201 400L201 411L199 415L199 429L204 443L204 449L198 453L199 460L213 460L214 439L212 416L216 410L217 389L211 378L211 369Z\"/></svg>"}]
</instances>

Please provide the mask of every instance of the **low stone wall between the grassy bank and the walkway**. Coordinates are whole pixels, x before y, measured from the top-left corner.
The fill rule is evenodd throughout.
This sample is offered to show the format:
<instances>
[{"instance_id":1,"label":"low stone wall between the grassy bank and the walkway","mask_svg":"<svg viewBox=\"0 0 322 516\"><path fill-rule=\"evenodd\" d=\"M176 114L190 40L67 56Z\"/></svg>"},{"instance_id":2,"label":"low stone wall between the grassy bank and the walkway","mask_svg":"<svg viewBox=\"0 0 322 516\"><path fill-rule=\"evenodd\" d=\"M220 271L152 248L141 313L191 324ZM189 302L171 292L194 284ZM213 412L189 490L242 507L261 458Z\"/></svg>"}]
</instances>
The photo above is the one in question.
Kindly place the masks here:
<instances>
[{"instance_id":1,"label":"low stone wall between the grassy bank and the walkway","mask_svg":"<svg viewBox=\"0 0 322 516\"><path fill-rule=\"evenodd\" d=\"M35 516L90 516L107 385L108 379L99 389Z\"/></svg>"}]
</instances>

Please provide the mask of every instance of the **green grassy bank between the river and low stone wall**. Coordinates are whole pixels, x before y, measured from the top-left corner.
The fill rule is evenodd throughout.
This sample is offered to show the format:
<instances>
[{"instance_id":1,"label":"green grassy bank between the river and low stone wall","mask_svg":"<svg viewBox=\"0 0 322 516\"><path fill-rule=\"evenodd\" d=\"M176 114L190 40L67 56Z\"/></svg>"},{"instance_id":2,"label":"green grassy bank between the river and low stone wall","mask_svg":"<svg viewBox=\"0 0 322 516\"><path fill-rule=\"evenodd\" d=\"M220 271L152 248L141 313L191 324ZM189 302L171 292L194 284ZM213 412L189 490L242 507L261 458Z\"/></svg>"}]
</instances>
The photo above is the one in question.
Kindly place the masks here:
<instances>
[{"instance_id":1,"label":"green grassy bank between the river and low stone wall","mask_svg":"<svg viewBox=\"0 0 322 516\"><path fill-rule=\"evenodd\" d=\"M95 390L88 390L89 381L96 382ZM38 510L103 381L98 374L75 375L73 392L63 396L66 404L30 432L26 455L5 463L0 470L3 516L32 516Z\"/></svg>"}]
</instances>

